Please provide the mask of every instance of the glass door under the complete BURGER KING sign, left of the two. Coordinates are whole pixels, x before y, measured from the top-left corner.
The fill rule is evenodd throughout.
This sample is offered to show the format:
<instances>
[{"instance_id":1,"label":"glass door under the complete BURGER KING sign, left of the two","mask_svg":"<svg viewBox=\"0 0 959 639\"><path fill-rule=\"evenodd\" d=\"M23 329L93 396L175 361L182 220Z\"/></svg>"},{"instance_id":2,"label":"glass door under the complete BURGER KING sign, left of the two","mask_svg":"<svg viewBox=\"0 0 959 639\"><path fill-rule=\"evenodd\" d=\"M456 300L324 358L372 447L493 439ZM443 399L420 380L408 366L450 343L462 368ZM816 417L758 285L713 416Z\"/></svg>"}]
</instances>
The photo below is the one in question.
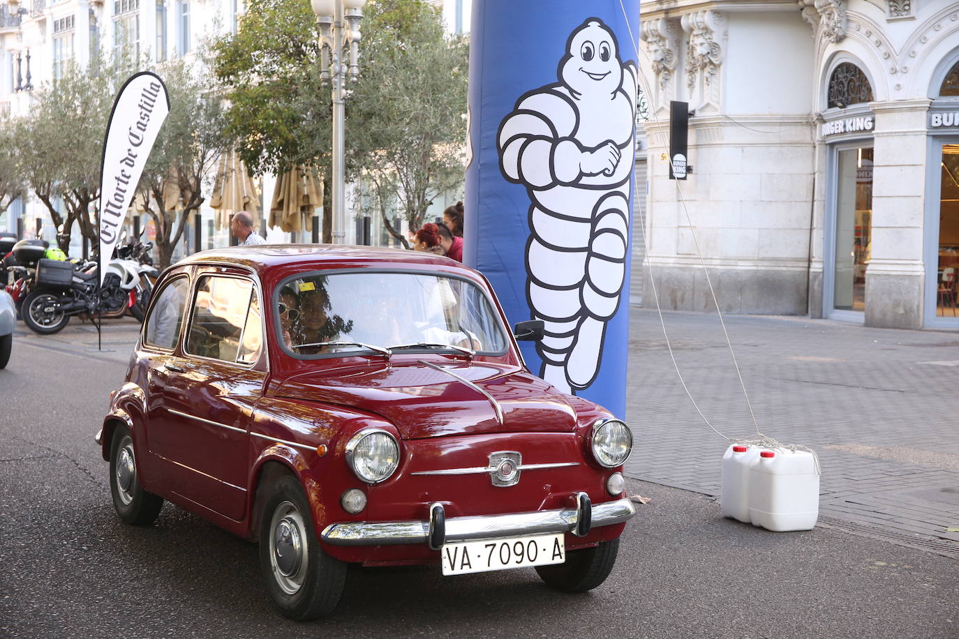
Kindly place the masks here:
<instances>
[{"instance_id":1,"label":"glass door under the complete BURGER KING sign, left of the two","mask_svg":"<svg viewBox=\"0 0 959 639\"><path fill-rule=\"evenodd\" d=\"M873 148L840 148L834 166L831 309L841 316L843 311L862 313L866 309L866 268L872 251Z\"/></svg>"}]
</instances>

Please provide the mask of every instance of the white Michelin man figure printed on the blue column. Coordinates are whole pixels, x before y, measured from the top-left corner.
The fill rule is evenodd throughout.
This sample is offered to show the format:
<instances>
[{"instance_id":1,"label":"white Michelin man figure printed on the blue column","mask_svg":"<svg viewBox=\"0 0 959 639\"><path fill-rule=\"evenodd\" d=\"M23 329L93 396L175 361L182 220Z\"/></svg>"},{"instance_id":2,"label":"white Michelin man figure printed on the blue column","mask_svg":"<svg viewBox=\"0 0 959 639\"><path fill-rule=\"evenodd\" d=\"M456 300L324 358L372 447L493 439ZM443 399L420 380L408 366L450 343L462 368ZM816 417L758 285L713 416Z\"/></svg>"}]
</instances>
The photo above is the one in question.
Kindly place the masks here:
<instances>
[{"instance_id":1,"label":"white Michelin man figure printed on the blue column","mask_svg":"<svg viewBox=\"0 0 959 639\"><path fill-rule=\"evenodd\" d=\"M526 301L546 324L540 375L566 392L599 371L629 245L636 63L589 18L567 40L558 82L527 92L497 134L500 171L526 186Z\"/></svg>"}]
</instances>

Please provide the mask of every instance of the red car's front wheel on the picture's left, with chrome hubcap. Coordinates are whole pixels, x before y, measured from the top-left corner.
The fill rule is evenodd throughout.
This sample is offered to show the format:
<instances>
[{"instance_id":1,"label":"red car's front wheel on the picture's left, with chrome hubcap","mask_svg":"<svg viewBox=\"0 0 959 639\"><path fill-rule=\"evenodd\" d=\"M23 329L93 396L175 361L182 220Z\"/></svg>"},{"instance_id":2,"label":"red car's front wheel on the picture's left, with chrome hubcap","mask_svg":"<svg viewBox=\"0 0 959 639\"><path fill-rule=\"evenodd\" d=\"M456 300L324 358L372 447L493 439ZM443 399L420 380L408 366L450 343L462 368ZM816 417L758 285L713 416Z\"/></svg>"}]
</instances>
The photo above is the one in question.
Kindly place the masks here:
<instances>
[{"instance_id":1,"label":"red car's front wheel on the picture's left, with chrome hubcap","mask_svg":"<svg viewBox=\"0 0 959 639\"><path fill-rule=\"evenodd\" d=\"M346 563L319 547L306 493L295 477L278 477L265 495L260 568L269 597L293 621L319 619L339 604Z\"/></svg>"}]
</instances>

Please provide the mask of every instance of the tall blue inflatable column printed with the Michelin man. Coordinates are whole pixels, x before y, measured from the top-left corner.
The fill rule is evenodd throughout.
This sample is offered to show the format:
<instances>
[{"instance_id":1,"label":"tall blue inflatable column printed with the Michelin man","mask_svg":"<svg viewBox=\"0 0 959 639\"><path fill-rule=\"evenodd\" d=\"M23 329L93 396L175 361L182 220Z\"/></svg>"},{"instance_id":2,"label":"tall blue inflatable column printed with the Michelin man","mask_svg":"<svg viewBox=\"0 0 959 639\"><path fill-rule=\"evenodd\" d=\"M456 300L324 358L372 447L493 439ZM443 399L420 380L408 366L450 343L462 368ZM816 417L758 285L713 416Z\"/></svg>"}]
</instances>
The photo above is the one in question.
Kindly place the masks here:
<instances>
[{"instance_id":1,"label":"tall blue inflatable column printed with the Michelin man","mask_svg":"<svg viewBox=\"0 0 959 639\"><path fill-rule=\"evenodd\" d=\"M624 417L638 1L476 0L465 262L557 388Z\"/></svg>"}]
</instances>

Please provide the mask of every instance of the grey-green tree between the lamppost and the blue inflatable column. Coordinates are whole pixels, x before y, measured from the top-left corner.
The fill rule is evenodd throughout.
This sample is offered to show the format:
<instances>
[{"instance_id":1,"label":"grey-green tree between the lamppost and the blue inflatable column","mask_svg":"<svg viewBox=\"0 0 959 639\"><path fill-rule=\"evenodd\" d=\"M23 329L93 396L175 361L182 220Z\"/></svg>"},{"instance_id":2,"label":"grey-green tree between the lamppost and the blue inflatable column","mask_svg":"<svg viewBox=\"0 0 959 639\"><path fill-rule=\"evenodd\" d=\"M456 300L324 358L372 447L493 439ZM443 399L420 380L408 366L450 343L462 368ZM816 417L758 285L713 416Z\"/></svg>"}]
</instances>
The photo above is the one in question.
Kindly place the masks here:
<instances>
[{"instance_id":1,"label":"grey-green tree between the lamppost and the blue inflatable column","mask_svg":"<svg viewBox=\"0 0 959 639\"><path fill-rule=\"evenodd\" d=\"M386 213L397 206L409 228L422 226L437 194L463 180L469 53L446 38L433 7L379 0L364 19L363 74L347 110L347 139L386 229L405 245Z\"/></svg>"}]
</instances>

